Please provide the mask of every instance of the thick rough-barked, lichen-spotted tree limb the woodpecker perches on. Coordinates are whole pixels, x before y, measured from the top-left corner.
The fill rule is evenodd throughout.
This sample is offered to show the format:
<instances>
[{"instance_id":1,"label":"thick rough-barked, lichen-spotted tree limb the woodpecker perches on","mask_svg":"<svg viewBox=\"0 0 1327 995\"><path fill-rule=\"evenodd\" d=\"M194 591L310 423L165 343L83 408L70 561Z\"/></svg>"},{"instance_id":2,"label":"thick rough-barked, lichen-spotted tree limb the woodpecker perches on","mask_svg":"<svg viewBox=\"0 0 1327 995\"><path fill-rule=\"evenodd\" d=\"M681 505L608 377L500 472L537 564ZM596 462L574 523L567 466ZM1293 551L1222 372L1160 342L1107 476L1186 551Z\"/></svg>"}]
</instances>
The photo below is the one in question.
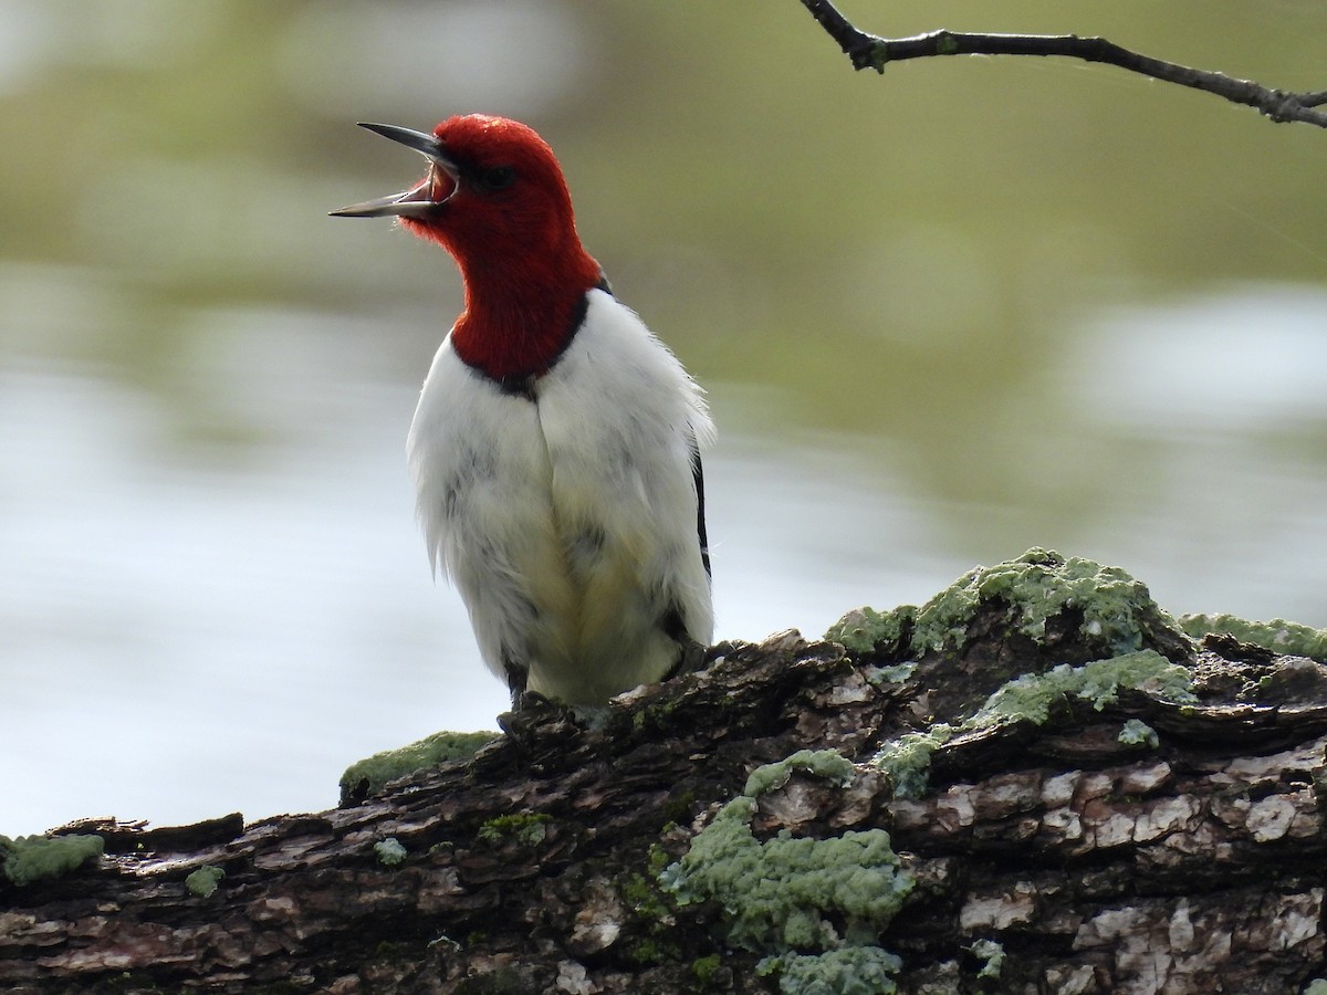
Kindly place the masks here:
<instances>
[{"instance_id":1,"label":"thick rough-barked, lichen-spotted tree limb the woodpecker perches on","mask_svg":"<svg viewBox=\"0 0 1327 995\"><path fill-rule=\"evenodd\" d=\"M978 570L922 609L851 617L841 642L718 647L593 722L508 715L472 758L329 812L73 827L105 856L0 880L0 990L1300 991L1327 974L1327 667L1190 638L1083 563L1030 553L1038 593ZM1121 584L1123 609L1089 604ZM853 763L748 783L803 750ZM901 913L811 878L784 893L791 918L697 897L682 858L734 811L756 844L886 830ZM813 941L787 939L799 917ZM898 961L798 980L799 954L844 949Z\"/></svg>"}]
</instances>

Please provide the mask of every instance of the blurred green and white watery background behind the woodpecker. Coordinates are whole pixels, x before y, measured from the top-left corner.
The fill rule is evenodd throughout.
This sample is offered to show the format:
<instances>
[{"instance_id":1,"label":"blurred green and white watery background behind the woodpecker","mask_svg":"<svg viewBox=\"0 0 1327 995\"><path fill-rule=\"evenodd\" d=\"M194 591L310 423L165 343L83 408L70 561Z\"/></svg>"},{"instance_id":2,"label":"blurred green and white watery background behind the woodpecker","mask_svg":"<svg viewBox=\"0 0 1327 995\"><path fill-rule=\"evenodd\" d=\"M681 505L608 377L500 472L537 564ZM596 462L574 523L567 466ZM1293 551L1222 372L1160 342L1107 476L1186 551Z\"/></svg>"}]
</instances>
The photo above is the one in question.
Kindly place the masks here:
<instances>
[{"instance_id":1,"label":"blurred green and white watery background behind the woodpecker","mask_svg":"<svg viewBox=\"0 0 1327 995\"><path fill-rule=\"evenodd\" d=\"M1327 88L1327 7L914 0ZM1327 133L1058 60L855 74L796 0L0 1L0 833L334 803L491 728L403 439L459 309L328 219L484 110L710 391L718 634L1031 545L1327 626Z\"/></svg>"}]
</instances>

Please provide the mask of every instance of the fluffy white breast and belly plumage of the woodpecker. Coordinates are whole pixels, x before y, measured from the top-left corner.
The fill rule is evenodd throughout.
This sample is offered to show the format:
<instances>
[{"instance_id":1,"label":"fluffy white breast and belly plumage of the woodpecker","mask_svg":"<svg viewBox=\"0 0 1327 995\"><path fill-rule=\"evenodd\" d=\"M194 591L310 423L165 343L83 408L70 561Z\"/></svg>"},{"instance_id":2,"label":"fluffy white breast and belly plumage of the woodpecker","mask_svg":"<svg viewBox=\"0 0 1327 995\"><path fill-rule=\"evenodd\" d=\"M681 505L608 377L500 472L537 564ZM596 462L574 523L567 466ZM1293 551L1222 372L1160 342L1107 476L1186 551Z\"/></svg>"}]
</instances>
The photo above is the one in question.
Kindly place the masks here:
<instances>
[{"instance_id":1,"label":"fluffy white breast and belly plumage of the woodpecker","mask_svg":"<svg viewBox=\"0 0 1327 995\"><path fill-rule=\"evenodd\" d=\"M670 609L713 637L691 446L714 430L677 358L601 291L535 391L503 394L443 342L407 443L419 516L488 667L598 703L677 662Z\"/></svg>"}]
</instances>

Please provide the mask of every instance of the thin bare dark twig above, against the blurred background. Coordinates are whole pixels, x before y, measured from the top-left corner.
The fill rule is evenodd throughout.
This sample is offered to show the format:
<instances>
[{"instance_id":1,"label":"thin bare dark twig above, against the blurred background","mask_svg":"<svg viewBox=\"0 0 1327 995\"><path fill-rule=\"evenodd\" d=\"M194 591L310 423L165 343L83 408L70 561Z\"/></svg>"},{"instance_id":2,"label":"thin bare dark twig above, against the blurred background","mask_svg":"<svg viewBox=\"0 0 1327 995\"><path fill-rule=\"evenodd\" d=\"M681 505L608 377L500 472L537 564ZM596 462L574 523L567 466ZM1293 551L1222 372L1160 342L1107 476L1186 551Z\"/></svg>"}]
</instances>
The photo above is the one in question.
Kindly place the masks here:
<instances>
[{"instance_id":1,"label":"thin bare dark twig above, against the blurred background","mask_svg":"<svg viewBox=\"0 0 1327 995\"><path fill-rule=\"evenodd\" d=\"M886 62L929 56L1066 56L1214 93L1234 103L1254 107L1273 121L1303 121L1327 127L1327 111L1315 110L1327 103L1327 90L1273 90L1247 80L1143 56L1105 38L1083 38L1076 34L978 34L945 29L910 38L882 38L856 28L831 0L802 0L802 5L839 42L855 69L884 73Z\"/></svg>"}]
</instances>

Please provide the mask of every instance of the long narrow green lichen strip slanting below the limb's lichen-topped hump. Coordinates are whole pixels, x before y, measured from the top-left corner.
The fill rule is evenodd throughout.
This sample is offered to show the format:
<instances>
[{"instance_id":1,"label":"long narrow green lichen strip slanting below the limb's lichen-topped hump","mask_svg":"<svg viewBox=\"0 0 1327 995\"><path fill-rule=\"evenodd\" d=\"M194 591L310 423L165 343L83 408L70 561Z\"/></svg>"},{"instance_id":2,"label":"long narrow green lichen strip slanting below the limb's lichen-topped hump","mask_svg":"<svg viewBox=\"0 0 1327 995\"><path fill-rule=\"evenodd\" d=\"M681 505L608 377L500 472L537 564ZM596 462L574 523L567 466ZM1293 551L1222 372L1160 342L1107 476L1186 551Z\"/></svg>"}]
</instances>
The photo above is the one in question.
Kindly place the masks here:
<instances>
[{"instance_id":1,"label":"long narrow green lichen strip slanting below the limb's lichen-topped hump","mask_svg":"<svg viewBox=\"0 0 1327 995\"><path fill-rule=\"evenodd\" d=\"M1096 659L1080 667L1062 663L1044 674L1024 674L1009 681L957 726L941 723L885 743L876 754L874 763L889 775L896 797L918 797L926 789L932 754L958 734L1011 722L1042 726L1050 718L1051 708L1070 698L1087 702L1100 711L1127 689L1145 691L1169 702L1197 700L1189 670L1172 663L1156 650Z\"/></svg>"}]
</instances>

